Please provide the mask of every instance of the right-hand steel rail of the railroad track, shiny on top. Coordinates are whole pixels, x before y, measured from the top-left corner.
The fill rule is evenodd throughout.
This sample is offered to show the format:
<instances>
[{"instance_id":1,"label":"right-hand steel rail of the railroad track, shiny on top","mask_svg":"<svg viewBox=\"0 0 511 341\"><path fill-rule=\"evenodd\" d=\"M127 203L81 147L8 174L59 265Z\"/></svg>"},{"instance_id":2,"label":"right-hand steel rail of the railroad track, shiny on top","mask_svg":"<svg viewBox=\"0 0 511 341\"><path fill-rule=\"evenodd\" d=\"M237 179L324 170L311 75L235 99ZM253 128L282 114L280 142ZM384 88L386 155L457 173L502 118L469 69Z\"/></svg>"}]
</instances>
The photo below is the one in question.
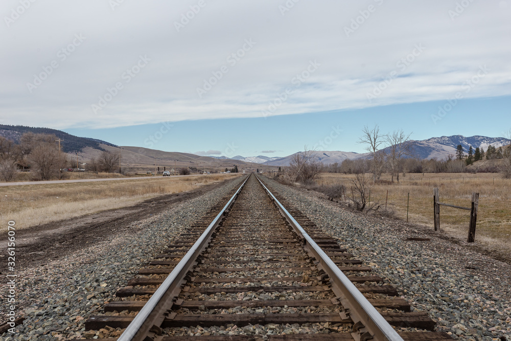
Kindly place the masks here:
<instances>
[{"instance_id":1,"label":"right-hand steel rail of the railroad track, shiny on top","mask_svg":"<svg viewBox=\"0 0 511 341\"><path fill-rule=\"evenodd\" d=\"M292 226L295 233L304 242L304 246L310 254L316 258L320 267L330 277L332 291L340 298L341 304L346 309L346 315L355 323L352 336L358 340L373 338L377 341L402 341L403 338L392 328L384 317L373 307L357 289L357 287L339 270L338 266L327 256L321 247L307 234L293 216L286 210L280 201L270 192L258 176L255 176L265 189L266 193L273 200L278 210ZM346 316L347 317L347 316Z\"/></svg>"}]
</instances>

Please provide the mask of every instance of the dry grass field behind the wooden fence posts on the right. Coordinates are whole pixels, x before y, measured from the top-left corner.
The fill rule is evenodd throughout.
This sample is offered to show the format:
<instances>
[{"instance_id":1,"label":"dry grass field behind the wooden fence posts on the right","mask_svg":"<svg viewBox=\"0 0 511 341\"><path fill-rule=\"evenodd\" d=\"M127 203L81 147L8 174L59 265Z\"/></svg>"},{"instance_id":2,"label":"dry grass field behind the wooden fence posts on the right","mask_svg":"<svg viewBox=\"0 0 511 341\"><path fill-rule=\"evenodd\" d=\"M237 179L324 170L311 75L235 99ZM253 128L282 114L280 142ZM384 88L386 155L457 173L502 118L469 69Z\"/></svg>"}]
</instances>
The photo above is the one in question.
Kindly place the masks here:
<instances>
[{"instance_id":1,"label":"dry grass field behind the wooden fence posts on the right","mask_svg":"<svg viewBox=\"0 0 511 341\"><path fill-rule=\"evenodd\" d=\"M343 184L351 195L351 179L355 175L323 173L319 184ZM366 174L369 183L371 175ZM390 176L382 176L390 181ZM395 179L394 179L395 180ZM386 182L386 181L385 181ZM396 216L406 220L407 197L410 193L408 219L433 230L433 188L439 188L440 202L461 207L471 206L472 192L479 193L476 242L487 248L511 254L511 179L492 173L406 174L399 184L376 184L371 189L371 201L388 204ZM440 207L440 229L453 237L466 240L470 211Z\"/></svg>"}]
</instances>

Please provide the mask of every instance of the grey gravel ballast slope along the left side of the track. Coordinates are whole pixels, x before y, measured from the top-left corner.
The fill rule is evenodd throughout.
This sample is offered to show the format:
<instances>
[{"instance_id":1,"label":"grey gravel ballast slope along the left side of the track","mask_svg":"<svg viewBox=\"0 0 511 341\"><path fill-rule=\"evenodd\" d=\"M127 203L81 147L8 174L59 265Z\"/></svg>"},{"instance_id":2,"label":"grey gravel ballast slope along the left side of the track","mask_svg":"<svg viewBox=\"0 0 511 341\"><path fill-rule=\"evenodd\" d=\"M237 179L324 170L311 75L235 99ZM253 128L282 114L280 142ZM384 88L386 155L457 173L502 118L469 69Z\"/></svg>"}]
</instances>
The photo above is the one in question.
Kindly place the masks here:
<instances>
[{"instance_id":1,"label":"grey gravel ballast slope along the left side of the track","mask_svg":"<svg viewBox=\"0 0 511 341\"><path fill-rule=\"evenodd\" d=\"M136 272L165 248L208 209L241 184L242 178L207 192L199 198L169 207L131 225L131 230L112 235L58 261L16 272L16 301L26 316L15 333L6 332L1 340L61 340L82 337L84 322L97 314ZM17 251L17 257L22 252ZM0 300L2 322L6 321L8 287L3 281Z\"/></svg>"}]
</instances>

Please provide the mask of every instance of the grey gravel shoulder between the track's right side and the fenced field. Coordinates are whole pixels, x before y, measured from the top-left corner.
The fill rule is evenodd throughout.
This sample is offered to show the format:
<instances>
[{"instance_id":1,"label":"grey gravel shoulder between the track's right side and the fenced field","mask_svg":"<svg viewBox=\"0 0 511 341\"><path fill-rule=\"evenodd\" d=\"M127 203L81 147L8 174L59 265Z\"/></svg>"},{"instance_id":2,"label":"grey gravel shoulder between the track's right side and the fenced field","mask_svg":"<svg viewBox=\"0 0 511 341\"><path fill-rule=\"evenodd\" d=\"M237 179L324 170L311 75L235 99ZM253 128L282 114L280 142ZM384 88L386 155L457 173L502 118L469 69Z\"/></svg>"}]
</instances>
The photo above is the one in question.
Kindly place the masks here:
<instances>
[{"instance_id":1,"label":"grey gravel shoulder between the track's right side and the fenced field","mask_svg":"<svg viewBox=\"0 0 511 341\"><path fill-rule=\"evenodd\" d=\"M463 340L511 340L511 266L477 246L421 226L345 209L324 195L266 179L317 226L397 287L413 310L427 311L436 331ZM286 206L286 203L283 203ZM409 237L429 241L406 241Z\"/></svg>"}]
</instances>

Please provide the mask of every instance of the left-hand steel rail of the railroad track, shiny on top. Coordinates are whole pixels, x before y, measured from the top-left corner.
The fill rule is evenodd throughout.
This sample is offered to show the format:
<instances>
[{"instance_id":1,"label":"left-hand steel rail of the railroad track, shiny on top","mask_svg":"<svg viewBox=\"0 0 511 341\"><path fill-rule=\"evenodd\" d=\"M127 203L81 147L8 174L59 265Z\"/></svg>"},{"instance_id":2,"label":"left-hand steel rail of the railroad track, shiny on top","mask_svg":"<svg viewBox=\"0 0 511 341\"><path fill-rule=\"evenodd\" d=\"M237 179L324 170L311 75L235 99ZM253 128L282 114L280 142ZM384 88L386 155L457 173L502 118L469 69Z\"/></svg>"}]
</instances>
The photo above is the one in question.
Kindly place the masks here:
<instances>
[{"instance_id":1,"label":"left-hand steel rail of the railroad track, shiny on top","mask_svg":"<svg viewBox=\"0 0 511 341\"><path fill-rule=\"evenodd\" d=\"M185 276L187 276L188 271L197 265L197 257L210 243L212 234L215 232L218 224L230 208L231 204L233 204L238 197L238 194L247 183L249 177L250 175L247 176L240 188L238 188L236 193L229 199L220 213L218 213L195 244L193 244L190 251L184 255L165 281L154 292L149 301L147 301L140 312L138 312L133 321L131 321L129 326L118 338L118 341L142 341L147 337L147 334L151 331L154 325L157 327L156 329L159 329L159 325L165 319L166 311L172 306L172 300L177 297L181 291L181 285L185 283Z\"/></svg>"}]
</instances>

